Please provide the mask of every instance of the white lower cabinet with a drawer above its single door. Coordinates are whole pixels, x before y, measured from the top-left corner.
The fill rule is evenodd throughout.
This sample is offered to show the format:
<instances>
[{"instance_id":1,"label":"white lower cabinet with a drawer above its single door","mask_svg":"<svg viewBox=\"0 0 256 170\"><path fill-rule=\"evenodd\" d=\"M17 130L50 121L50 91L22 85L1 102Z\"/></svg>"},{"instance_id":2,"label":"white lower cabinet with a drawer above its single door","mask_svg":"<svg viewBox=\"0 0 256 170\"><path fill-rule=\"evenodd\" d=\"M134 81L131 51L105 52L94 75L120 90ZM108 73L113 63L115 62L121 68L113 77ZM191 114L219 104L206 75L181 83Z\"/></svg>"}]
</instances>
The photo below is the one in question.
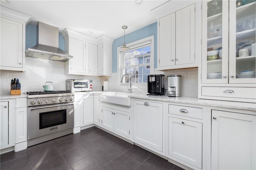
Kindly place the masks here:
<instances>
[{"instance_id":1,"label":"white lower cabinet with a drawer above its single door","mask_svg":"<svg viewBox=\"0 0 256 170\"><path fill-rule=\"evenodd\" d=\"M168 105L166 156L193 169L202 169L202 110Z\"/></svg>"}]
</instances>

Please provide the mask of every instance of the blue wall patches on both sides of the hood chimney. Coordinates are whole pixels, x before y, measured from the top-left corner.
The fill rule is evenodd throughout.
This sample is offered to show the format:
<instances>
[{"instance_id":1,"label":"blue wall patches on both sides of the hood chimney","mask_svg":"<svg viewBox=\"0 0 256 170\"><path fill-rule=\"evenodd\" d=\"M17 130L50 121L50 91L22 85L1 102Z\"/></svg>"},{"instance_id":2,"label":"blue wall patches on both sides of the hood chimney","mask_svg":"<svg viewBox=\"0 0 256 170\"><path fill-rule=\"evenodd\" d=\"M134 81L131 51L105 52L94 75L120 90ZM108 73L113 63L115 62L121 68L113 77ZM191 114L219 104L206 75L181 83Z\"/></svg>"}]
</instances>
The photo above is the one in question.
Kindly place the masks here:
<instances>
[{"instance_id":1,"label":"blue wall patches on both sides of the hood chimney","mask_svg":"<svg viewBox=\"0 0 256 170\"><path fill-rule=\"evenodd\" d=\"M36 26L28 24L26 26L26 50L33 47L38 42ZM59 33L59 48L65 51L65 41L63 36Z\"/></svg>"}]
</instances>

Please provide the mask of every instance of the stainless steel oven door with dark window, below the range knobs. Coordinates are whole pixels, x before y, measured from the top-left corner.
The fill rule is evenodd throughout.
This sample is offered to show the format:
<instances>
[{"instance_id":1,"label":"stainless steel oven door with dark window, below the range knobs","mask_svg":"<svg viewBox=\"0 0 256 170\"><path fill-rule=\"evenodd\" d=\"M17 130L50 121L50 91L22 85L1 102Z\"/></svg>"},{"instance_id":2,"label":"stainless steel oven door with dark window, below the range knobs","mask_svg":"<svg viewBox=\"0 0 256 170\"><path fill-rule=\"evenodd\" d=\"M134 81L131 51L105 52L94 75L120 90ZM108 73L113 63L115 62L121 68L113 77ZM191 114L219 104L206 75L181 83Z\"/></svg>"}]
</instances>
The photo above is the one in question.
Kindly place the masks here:
<instances>
[{"instance_id":1,"label":"stainless steel oven door with dark window, below the range knobs","mask_svg":"<svg viewBox=\"0 0 256 170\"><path fill-rule=\"evenodd\" d=\"M28 107L28 140L74 127L74 103Z\"/></svg>"}]
</instances>

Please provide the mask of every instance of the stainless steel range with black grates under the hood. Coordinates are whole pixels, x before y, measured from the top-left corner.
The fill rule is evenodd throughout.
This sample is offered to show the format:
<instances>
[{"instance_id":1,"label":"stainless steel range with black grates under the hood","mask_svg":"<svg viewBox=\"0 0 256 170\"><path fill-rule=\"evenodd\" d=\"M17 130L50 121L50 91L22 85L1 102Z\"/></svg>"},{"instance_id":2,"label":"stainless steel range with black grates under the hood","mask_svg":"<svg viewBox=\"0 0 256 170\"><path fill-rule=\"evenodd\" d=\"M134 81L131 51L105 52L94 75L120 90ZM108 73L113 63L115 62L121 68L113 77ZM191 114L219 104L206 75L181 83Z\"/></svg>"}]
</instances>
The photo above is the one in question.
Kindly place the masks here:
<instances>
[{"instance_id":1,"label":"stainless steel range with black grates under the hood","mask_svg":"<svg viewBox=\"0 0 256 170\"><path fill-rule=\"evenodd\" d=\"M28 95L28 146L73 133L74 93L35 91Z\"/></svg>"}]
</instances>

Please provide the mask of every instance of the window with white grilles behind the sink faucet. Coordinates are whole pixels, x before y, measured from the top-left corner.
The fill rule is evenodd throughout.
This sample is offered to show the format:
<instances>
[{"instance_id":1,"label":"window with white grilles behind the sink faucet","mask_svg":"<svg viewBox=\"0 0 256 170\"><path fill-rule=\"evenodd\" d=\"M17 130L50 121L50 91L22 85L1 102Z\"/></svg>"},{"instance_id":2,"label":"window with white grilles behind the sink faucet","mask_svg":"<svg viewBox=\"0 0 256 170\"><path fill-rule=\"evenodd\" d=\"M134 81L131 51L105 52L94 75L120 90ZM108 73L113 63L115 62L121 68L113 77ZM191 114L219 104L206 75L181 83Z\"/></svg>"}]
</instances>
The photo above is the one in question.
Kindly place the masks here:
<instances>
[{"instance_id":1,"label":"window with white grilles behind the sink faucet","mask_svg":"<svg viewBox=\"0 0 256 170\"><path fill-rule=\"evenodd\" d=\"M154 63L151 63L154 61L152 61L151 42L151 40L146 40L141 43L134 42L135 45L128 44L131 50L120 53L120 76L131 75L132 83L148 82L151 67L154 67ZM129 77L124 77L123 83L128 82Z\"/></svg>"}]
</instances>

